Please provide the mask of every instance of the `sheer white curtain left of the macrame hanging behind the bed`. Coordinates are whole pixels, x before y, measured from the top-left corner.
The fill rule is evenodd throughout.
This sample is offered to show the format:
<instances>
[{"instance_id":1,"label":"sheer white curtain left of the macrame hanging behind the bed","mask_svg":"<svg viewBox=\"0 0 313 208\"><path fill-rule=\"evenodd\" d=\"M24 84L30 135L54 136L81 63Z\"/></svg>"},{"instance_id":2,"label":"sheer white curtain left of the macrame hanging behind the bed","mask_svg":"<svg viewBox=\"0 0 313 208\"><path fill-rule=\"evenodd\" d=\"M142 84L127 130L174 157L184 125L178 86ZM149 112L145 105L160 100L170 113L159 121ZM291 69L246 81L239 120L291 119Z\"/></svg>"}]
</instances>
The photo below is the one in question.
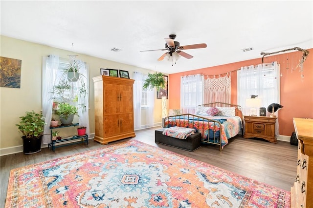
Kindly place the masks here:
<instances>
[{"instance_id":1,"label":"sheer white curtain left of the macrame hanging behind the bed","mask_svg":"<svg viewBox=\"0 0 313 208\"><path fill-rule=\"evenodd\" d=\"M196 113L198 105L203 104L203 75L181 76L180 109L182 113Z\"/></svg>"}]
</instances>

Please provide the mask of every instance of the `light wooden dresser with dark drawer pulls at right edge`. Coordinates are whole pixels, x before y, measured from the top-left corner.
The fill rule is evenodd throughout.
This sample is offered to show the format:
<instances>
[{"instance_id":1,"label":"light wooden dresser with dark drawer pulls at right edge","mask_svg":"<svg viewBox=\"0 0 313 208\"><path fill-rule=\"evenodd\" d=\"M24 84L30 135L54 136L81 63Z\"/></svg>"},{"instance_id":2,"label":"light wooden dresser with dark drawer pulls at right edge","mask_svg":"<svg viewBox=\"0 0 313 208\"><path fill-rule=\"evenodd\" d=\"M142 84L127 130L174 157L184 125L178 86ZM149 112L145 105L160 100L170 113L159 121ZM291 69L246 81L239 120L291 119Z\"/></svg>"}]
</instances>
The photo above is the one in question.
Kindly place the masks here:
<instances>
[{"instance_id":1,"label":"light wooden dresser with dark drawer pulls at right edge","mask_svg":"<svg viewBox=\"0 0 313 208\"><path fill-rule=\"evenodd\" d=\"M299 144L291 208L313 208L313 119L293 118L293 125Z\"/></svg>"}]
</instances>

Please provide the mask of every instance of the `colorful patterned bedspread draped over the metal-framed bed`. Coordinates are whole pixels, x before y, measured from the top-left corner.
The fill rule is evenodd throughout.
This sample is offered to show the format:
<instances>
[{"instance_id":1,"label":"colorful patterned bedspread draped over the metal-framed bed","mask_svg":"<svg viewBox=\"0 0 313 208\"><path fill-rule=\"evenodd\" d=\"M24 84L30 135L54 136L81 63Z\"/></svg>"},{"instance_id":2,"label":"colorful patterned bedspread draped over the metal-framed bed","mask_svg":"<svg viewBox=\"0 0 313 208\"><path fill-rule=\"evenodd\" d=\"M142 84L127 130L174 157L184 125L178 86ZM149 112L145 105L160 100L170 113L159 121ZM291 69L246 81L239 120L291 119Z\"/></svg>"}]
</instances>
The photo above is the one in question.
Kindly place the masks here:
<instances>
[{"instance_id":1,"label":"colorful patterned bedspread draped over the metal-framed bed","mask_svg":"<svg viewBox=\"0 0 313 208\"><path fill-rule=\"evenodd\" d=\"M186 127L194 128L196 132L201 133L202 141L209 141L213 143L220 143L221 134L221 146L222 148L228 144L228 139L236 136L242 129L242 120L239 116L225 117L225 116L203 116L210 120L218 121L222 125L222 131L220 131L220 124L217 122L210 121L206 119L199 119L199 117L186 117L186 116L176 116L170 120L165 120L165 127Z\"/></svg>"}]
</instances>

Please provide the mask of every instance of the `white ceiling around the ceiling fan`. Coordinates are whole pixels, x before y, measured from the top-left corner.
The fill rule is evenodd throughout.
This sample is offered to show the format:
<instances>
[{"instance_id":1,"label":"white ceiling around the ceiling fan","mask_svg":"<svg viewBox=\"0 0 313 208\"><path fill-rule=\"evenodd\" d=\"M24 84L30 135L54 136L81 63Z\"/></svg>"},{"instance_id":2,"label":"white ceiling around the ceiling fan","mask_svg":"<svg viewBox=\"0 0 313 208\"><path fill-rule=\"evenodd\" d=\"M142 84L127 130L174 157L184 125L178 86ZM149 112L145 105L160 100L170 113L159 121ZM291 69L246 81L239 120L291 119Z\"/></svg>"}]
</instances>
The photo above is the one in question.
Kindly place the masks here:
<instances>
[{"instance_id":1,"label":"white ceiling around the ceiling fan","mask_svg":"<svg viewBox=\"0 0 313 208\"><path fill-rule=\"evenodd\" d=\"M261 58L261 52L313 48L312 0L1 0L0 7L3 36L167 74ZM170 34L180 45L207 48L184 50L194 57L181 57L174 66L156 60L165 51L139 52L164 49ZM112 52L114 47L122 51Z\"/></svg>"}]
</instances>

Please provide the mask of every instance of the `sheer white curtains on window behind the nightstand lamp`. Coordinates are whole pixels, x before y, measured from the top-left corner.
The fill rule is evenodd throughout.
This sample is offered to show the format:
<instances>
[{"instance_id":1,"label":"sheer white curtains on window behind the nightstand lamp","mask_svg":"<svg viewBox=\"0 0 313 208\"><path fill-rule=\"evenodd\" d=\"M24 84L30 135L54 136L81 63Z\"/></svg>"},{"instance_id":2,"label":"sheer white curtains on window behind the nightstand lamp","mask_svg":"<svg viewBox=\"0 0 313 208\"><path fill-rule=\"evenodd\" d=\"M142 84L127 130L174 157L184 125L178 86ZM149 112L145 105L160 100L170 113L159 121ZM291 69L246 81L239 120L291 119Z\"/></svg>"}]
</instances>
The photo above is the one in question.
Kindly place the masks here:
<instances>
[{"instance_id":1,"label":"sheer white curtains on window behind the nightstand lamp","mask_svg":"<svg viewBox=\"0 0 313 208\"><path fill-rule=\"evenodd\" d=\"M268 109L271 103L280 103L280 67L275 61L256 66L241 67L237 72L238 105L242 106L244 115L249 114L246 99L258 95L261 106ZM259 115L259 109L257 114ZM271 113L267 111L269 116ZM278 111L275 113L278 117ZM278 136L278 119L276 119L275 135Z\"/></svg>"}]
</instances>

